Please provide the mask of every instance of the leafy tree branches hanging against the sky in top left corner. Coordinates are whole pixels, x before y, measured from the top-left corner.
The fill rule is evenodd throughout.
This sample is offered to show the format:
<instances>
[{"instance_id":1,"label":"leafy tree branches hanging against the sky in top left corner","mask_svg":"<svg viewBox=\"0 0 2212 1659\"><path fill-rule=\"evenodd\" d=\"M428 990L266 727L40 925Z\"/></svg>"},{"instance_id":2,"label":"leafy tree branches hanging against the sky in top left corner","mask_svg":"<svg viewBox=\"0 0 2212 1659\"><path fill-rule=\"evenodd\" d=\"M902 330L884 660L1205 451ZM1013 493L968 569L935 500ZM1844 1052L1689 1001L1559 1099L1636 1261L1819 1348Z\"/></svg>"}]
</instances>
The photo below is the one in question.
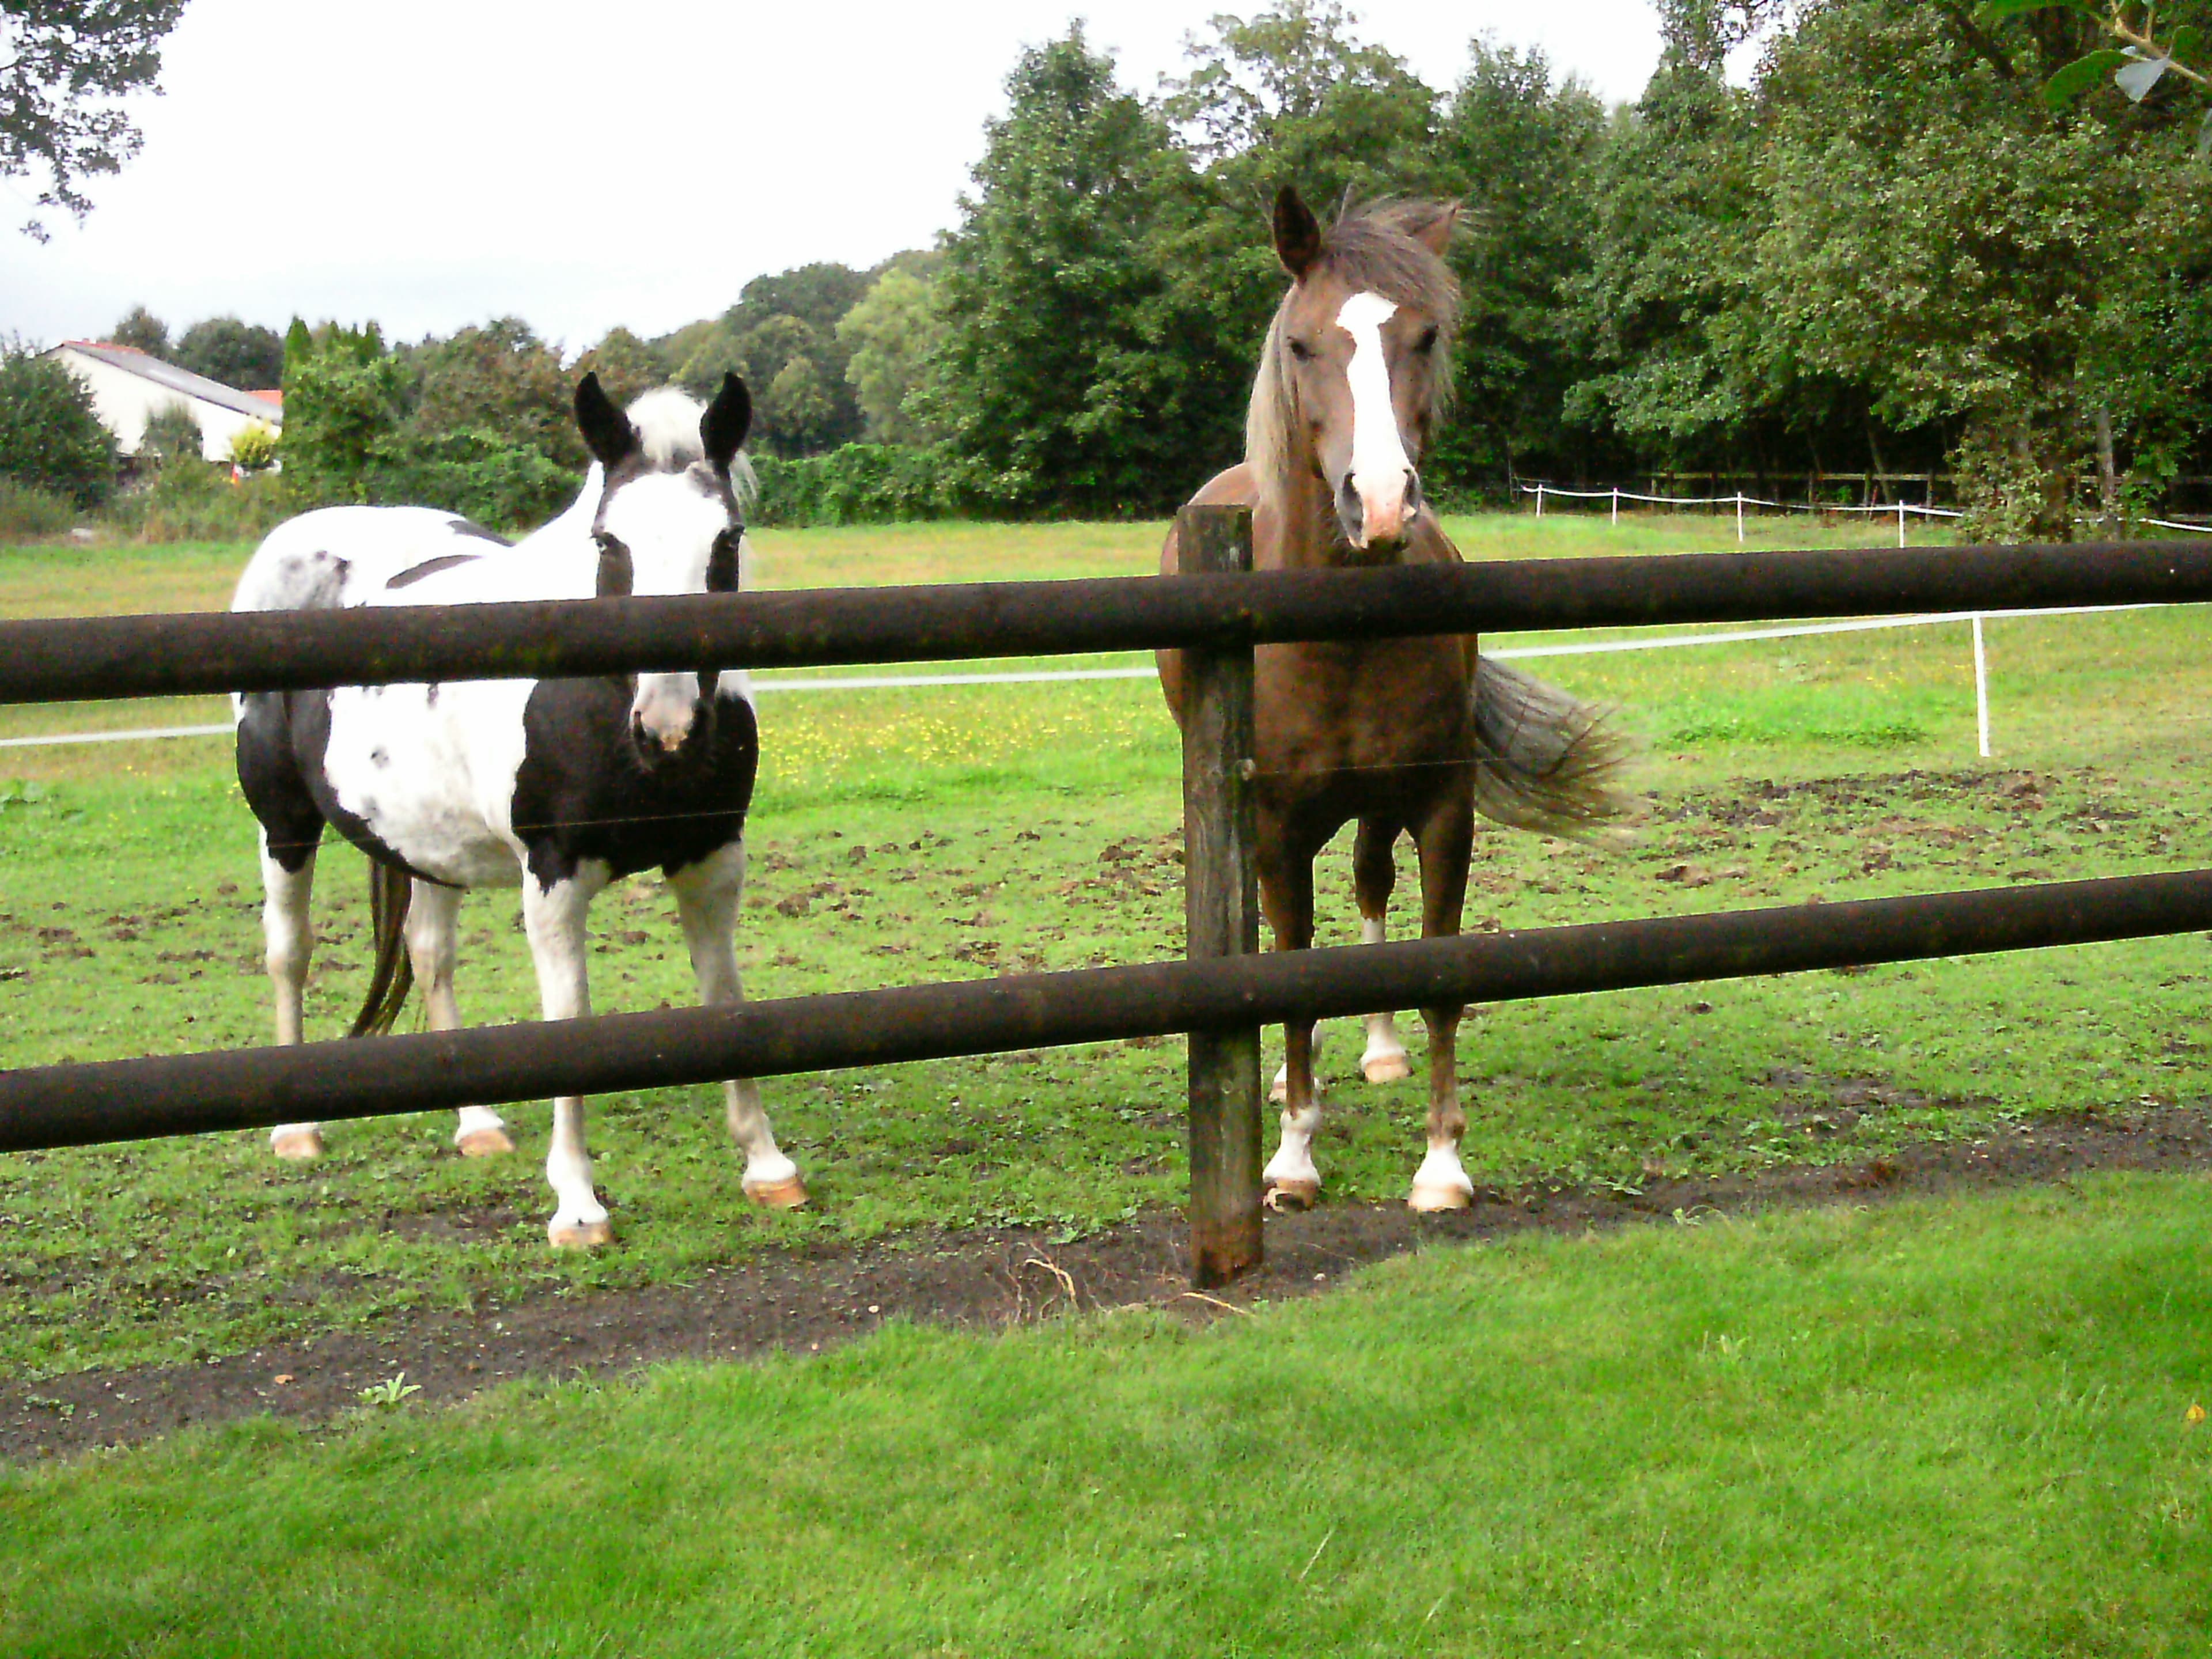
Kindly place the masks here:
<instances>
[{"instance_id":1,"label":"leafy tree branches hanging against the sky in top left corner","mask_svg":"<svg viewBox=\"0 0 2212 1659\"><path fill-rule=\"evenodd\" d=\"M0 177L84 219L84 179L119 173L142 137L119 100L159 91L184 0L0 0ZM40 219L24 232L46 239Z\"/></svg>"}]
</instances>

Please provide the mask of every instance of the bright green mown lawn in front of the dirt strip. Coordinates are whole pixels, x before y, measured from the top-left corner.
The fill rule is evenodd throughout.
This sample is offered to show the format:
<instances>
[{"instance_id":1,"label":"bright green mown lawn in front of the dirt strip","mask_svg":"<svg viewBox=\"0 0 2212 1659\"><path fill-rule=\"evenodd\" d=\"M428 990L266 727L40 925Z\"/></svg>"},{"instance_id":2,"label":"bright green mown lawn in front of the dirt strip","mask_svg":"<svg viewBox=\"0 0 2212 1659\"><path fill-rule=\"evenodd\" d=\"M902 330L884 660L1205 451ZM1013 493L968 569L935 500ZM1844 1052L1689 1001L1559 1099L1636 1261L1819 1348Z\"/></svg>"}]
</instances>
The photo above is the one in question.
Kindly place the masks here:
<instances>
[{"instance_id":1,"label":"bright green mown lawn in front of the dirt strip","mask_svg":"<svg viewBox=\"0 0 2212 1659\"><path fill-rule=\"evenodd\" d=\"M2201 1655L2201 1179L0 1473L44 1655Z\"/></svg>"}]
</instances>

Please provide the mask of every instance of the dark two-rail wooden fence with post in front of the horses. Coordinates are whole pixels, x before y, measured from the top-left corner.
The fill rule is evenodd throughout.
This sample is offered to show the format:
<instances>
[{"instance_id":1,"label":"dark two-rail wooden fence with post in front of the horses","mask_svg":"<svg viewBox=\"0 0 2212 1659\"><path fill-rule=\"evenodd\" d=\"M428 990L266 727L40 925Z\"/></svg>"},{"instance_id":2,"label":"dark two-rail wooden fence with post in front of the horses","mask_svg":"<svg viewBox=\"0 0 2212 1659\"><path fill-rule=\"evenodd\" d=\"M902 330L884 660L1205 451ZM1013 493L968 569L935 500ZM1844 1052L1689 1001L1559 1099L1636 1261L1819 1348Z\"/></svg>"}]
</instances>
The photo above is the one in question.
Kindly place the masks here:
<instances>
[{"instance_id":1,"label":"dark two-rail wooden fence with post in front of the horses","mask_svg":"<svg viewBox=\"0 0 2212 1659\"><path fill-rule=\"evenodd\" d=\"M1243 509L1186 546L1250 562ZM1192 1272L1261 1252L1259 1024L2212 927L2212 872L1256 956L1252 650L1290 639L2212 602L2212 544L1699 553L1385 571L0 624L0 701L1172 646L1192 960L0 1073L0 1150L1192 1033Z\"/></svg>"}]
</instances>

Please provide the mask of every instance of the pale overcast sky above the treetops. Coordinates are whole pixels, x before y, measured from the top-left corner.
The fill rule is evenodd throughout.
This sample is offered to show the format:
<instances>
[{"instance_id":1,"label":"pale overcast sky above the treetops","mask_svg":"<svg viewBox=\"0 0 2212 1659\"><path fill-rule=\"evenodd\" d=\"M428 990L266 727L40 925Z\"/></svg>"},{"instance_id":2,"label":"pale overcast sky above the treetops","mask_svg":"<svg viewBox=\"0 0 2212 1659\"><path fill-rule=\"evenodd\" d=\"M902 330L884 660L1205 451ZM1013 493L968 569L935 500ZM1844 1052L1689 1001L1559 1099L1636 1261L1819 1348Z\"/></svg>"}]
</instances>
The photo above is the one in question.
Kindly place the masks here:
<instances>
[{"instance_id":1,"label":"pale overcast sky above the treetops","mask_svg":"<svg viewBox=\"0 0 2212 1659\"><path fill-rule=\"evenodd\" d=\"M1245 13L1256 4L1234 7ZM1084 15L1150 93L1212 4L489 4L192 0L146 148L53 241L0 223L0 332L378 319L389 336L529 319L571 352L659 334L812 259L929 246L1024 44ZM1608 100L1659 58L1644 0L1356 0L1431 86L1467 42L1544 46ZM7 195L13 190L13 195ZM27 195L0 184L20 223Z\"/></svg>"}]
</instances>

